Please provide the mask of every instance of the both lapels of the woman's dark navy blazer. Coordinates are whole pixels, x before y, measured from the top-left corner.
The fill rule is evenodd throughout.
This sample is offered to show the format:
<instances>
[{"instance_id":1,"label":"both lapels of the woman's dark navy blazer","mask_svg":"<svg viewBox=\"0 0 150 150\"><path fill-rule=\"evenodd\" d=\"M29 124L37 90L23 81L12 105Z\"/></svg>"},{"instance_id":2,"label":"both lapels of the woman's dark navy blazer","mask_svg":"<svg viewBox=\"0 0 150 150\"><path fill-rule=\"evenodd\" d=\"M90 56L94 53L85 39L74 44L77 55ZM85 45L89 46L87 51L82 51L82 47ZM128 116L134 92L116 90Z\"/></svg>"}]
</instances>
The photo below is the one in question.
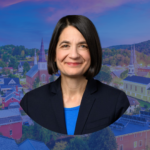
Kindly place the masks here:
<instances>
[{"instance_id":1,"label":"both lapels of the woman's dark navy blazer","mask_svg":"<svg viewBox=\"0 0 150 150\"><path fill-rule=\"evenodd\" d=\"M97 82L93 78L88 80L80 104L80 109L74 132L75 135L81 134L83 131L90 110L92 109L92 105L94 104L95 96L93 93L96 90L97 90ZM55 113L54 115L56 116L60 132L63 134L67 134L63 97L61 91L61 76L58 77L58 79L54 81L53 84L51 85L51 92L55 93L55 95L52 97L52 106L54 108Z\"/></svg>"}]
</instances>

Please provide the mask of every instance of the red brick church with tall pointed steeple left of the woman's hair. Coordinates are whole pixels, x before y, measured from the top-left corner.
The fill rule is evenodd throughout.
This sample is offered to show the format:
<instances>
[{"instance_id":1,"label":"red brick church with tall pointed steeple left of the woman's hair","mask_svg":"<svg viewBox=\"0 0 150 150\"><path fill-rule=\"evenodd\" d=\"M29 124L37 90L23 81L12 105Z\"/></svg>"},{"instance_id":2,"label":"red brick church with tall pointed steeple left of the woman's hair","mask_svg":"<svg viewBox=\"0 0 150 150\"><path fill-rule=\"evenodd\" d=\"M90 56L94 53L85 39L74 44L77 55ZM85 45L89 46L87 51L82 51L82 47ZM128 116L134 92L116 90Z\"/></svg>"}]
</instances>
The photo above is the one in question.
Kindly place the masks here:
<instances>
[{"instance_id":1,"label":"red brick church with tall pointed steeple left of the woman's hair","mask_svg":"<svg viewBox=\"0 0 150 150\"><path fill-rule=\"evenodd\" d=\"M45 58L43 39L41 42L39 61L37 62L35 51L34 66L26 73L26 82L31 89L33 88L33 83L37 77L40 79L41 84L49 83L49 79L51 77L47 70L47 61Z\"/></svg>"}]
</instances>

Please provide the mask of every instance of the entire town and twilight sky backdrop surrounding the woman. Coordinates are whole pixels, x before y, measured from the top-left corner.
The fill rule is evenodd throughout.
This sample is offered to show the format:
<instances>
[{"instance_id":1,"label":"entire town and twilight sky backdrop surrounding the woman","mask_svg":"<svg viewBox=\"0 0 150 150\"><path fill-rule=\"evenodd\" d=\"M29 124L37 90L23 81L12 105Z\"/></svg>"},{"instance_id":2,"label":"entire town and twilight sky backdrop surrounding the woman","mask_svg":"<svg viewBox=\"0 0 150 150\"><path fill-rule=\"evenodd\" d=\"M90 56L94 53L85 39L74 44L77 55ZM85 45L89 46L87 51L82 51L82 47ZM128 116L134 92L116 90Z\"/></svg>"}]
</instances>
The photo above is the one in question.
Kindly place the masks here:
<instances>
[{"instance_id":1,"label":"entire town and twilight sky backdrop surrounding the woman","mask_svg":"<svg viewBox=\"0 0 150 150\"><path fill-rule=\"evenodd\" d=\"M149 8L148 0L0 0L0 149L149 150ZM19 105L26 92L60 76L47 72L48 46L57 21L69 14L87 16L98 31L103 62L94 79L130 101L115 123L82 136L47 130Z\"/></svg>"}]
</instances>

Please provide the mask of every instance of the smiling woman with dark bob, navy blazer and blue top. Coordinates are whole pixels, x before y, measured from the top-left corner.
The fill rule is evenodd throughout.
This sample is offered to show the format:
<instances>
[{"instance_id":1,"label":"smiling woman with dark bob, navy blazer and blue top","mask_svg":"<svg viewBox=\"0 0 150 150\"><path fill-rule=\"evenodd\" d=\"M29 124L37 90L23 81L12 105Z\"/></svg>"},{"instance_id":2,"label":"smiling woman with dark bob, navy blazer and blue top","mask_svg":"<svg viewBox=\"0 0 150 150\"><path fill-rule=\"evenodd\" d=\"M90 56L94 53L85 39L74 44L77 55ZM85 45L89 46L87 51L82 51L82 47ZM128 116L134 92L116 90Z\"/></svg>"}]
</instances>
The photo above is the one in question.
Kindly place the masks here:
<instances>
[{"instance_id":1,"label":"smiling woman with dark bob, navy blazer and blue top","mask_svg":"<svg viewBox=\"0 0 150 150\"><path fill-rule=\"evenodd\" d=\"M25 94L20 105L41 126L62 134L101 130L128 108L126 94L94 80L101 69L102 48L93 23L85 16L61 18L48 50L48 72L61 76Z\"/></svg>"}]
</instances>

